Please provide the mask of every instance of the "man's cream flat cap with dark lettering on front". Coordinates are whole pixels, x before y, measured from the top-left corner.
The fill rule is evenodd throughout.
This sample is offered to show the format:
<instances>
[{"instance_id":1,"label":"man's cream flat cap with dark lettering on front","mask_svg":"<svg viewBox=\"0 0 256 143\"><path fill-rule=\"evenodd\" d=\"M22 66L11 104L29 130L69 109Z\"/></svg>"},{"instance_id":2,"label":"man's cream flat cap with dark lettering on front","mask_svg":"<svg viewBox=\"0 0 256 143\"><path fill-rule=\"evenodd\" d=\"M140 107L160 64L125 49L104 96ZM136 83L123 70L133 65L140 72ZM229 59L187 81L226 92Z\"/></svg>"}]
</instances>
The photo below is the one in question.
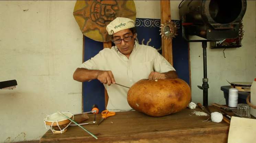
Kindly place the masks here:
<instances>
[{"instance_id":1,"label":"man's cream flat cap with dark lettering on front","mask_svg":"<svg viewBox=\"0 0 256 143\"><path fill-rule=\"evenodd\" d=\"M135 27L134 21L130 18L116 17L111 23L107 25L109 35L118 31Z\"/></svg>"}]
</instances>

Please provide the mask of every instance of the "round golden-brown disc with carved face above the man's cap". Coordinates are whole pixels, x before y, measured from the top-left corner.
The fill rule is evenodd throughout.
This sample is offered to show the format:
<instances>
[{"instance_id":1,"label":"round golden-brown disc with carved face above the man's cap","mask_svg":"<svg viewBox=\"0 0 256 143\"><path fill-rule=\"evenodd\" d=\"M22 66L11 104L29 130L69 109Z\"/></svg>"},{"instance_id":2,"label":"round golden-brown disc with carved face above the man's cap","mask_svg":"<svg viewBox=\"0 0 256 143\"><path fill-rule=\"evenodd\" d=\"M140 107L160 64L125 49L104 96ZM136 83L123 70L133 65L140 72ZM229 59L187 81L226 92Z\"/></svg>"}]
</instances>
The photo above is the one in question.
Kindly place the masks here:
<instances>
[{"instance_id":1,"label":"round golden-brown disc with carved face above the man's cap","mask_svg":"<svg viewBox=\"0 0 256 143\"><path fill-rule=\"evenodd\" d=\"M136 8L133 0L78 0L73 15L82 33L100 42L111 41L107 25L116 17L135 21Z\"/></svg>"}]
</instances>

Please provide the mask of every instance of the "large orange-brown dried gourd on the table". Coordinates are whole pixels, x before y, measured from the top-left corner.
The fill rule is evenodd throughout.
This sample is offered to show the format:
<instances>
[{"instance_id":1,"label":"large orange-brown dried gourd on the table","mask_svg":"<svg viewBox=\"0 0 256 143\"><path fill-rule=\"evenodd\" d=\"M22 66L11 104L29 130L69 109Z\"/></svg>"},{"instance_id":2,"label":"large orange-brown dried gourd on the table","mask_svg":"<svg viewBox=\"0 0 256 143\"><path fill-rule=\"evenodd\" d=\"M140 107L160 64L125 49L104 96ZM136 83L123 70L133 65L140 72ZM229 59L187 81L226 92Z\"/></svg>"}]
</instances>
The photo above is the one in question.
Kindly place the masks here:
<instances>
[{"instance_id":1,"label":"large orange-brown dried gourd on the table","mask_svg":"<svg viewBox=\"0 0 256 143\"><path fill-rule=\"evenodd\" d=\"M191 101L191 90L179 78L140 80L129 89L127 101L136 111L165 116L185 109Z\"/></svg>"}]
</instances>

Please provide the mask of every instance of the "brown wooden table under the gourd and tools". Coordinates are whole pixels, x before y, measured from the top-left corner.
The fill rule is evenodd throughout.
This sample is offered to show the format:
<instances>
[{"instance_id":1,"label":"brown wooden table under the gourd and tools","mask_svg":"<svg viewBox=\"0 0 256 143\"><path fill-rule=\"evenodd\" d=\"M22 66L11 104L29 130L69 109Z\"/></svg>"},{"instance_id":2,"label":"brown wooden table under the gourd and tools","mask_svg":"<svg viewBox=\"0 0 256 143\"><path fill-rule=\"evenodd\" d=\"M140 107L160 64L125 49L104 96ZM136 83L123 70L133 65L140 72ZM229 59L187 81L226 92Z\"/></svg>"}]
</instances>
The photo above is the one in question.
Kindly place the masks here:
<instances>
[{"instance_id":1,"label":"brown wooden table under the gourd and tools","mask_svg":"<svg viewBox=\"0 0 256 143\"><path fill-rule=\"evenodd\" d=\"M209 106L211 112L218 111ZM116 112L97 125L83 127L98 137L93 138L78 126L68 127L63 134L53 134L48 130L40 143L75 143L75 142L171 142L171 143L226 143L229 124L222 121L214 123L204 121L209 116L197 116L188 108L164 117L151 117L146 114L129 111ZM92 121L93 115L89 115ZM97 115L97 121L101 115ZM204 122L203 122L204 121Z\"/></svg>"}]
</instances>

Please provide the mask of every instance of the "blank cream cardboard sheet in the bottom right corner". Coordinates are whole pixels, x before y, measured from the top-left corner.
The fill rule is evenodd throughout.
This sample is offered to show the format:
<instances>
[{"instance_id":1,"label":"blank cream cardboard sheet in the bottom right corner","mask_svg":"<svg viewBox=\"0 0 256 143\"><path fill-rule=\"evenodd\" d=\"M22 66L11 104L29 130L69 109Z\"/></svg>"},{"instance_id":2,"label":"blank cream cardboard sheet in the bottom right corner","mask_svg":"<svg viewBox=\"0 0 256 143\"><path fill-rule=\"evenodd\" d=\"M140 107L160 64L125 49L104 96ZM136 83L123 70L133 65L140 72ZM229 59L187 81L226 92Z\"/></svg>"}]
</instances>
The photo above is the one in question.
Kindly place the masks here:
<instances>
[{"instance_id":1,"label":"blank cream cardboard sheet in the bottom right corner","mask_svg":"<svg viewBox=\"0 0 256 143\"><path fill-rule=\"evenodd\" d=\"M255 143L256 119L232 116L229 128L228 143Z\"/></svg>"}]
</instances>

